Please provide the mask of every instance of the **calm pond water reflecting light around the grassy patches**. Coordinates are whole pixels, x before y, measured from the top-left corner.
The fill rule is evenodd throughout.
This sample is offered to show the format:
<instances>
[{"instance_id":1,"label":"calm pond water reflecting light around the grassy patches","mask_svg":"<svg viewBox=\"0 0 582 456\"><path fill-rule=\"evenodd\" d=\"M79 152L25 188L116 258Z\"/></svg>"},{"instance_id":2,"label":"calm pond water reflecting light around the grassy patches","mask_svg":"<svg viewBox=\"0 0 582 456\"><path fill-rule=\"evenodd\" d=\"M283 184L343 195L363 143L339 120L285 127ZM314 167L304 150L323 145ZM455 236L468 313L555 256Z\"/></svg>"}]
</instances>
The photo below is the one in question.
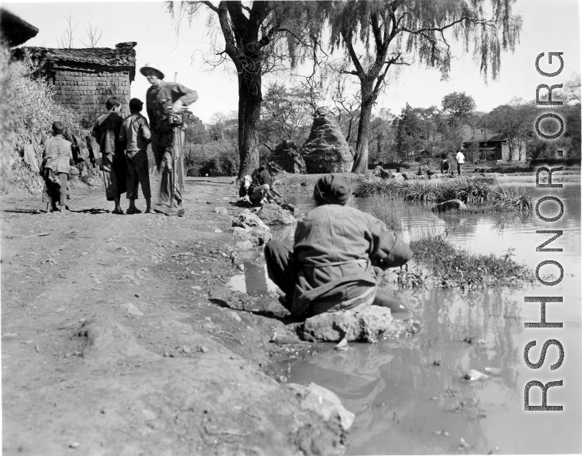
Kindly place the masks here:
<instances>
[{"instance_id":1,"label":"calm pond water reflecting light around the grassy patches","mask_svg":"<svg viewBox=\"0 0 582 456\"><path fill-rule=\"evenodd\" d=\"M461 293L456 289L402 290L414 308L412 317L422 323L420 334L376 344L350 343L346 352L318 350L313 355L281 363L290 382L322 385L339 396L355 413L348 454L429 453L581 453L582 437L582 297L581 297L581 196L579 185L529 191L536 198L557 196L563 216L553 223L535 214L449 214L427 212L420 203L394 201L403 212L403 232L448 231L448 239L475 253L513 253L513 259L531 269L543 260L556 260L564 269L557 286L535 284L526 288L490 288ZM311 198L295 197L300 212L313 207ZM366 210L366 201L352 204ZM544 203L546 217L559 212ZM551 214L551 215L550 215ZM563 236L547 247L562 252L536 252L552 235L536 230L561 229ZM293 227L274 229L273 235L291 245ZM512 250L513 249L513 250ZM540 277L559 275L544 266ZM247 293L273 293L260 259L245 264L245 275L232 286ZM396 285L394 284L394 288ZM244 290L243 290L244 291ZM540 320L540 304L526 296L562 296L563 303L546 305L546 321L562 321L563 328L524 328ZM472 343L463 341L472 338ZM558 358L557 347L548 348L540 369L524 363L524 347L537 345L529 359L539 360L541 345L558 339L565 352L563 364L550 371ZM490 372L489 379L462 380L469 369ZM548 405L563 411L524 411L524 386L530 380L563 380L548 390ZM530 391L530 404L541 404L539 388Z\"/></svg>"}]
</instances>

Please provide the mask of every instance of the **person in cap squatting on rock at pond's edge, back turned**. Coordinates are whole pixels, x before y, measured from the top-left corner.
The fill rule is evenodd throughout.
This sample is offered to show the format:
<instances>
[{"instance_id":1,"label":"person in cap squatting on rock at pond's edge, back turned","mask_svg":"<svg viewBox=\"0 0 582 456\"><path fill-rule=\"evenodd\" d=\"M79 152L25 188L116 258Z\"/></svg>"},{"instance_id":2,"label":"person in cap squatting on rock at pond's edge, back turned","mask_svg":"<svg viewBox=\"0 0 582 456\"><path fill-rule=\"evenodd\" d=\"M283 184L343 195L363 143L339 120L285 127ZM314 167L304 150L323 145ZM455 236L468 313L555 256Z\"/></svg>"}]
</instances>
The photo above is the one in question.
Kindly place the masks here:
<instances>
[{"instance_id":1,"label":"person in cap squatting on rock at pond's edge, back turned","mask_svg":"<svg viewBox=\"0 0 582 456\"><path fill-rule=\"evenodd\" d=\"M351 193L346 177L322 176L313 191L316 207L295 230L293 251L278 240L265 246L267 273L297 319L370 304L392 307L376 299L378 283L383 270L405 264L412 250L381 220L346 207Z\"/></svg>"}]
</instances>

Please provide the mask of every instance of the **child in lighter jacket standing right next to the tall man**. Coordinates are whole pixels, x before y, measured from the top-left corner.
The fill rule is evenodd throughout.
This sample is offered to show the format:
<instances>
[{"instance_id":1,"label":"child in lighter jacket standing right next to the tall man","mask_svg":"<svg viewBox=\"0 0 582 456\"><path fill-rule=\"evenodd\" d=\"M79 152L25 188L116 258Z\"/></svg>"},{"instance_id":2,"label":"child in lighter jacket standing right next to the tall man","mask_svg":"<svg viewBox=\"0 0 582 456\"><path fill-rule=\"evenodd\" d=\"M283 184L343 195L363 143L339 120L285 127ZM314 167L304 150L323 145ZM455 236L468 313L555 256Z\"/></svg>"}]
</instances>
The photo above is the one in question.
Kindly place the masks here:
<instances>
[{"instance_id":1,"label":"child in lighter jacket standing right next to the tall man","mask_svg":"<svg viewBox=\"0 0 582 456\"><path fill-rule=\"evenodd\" d=\"M120 130L120 142L126 144L125 158L127 160L127 199L129 200L128 214L141 214L135 207L137 199L137 185L142 185L142 193L146 199L146 214L151 212L152 194L150 190L150 174L148 166L148 152L146 148L152 135L148 120L140 114L144 102L139 98L132 98L129 102L129 112L123 121Z\"/></svg>"}]
</instances>

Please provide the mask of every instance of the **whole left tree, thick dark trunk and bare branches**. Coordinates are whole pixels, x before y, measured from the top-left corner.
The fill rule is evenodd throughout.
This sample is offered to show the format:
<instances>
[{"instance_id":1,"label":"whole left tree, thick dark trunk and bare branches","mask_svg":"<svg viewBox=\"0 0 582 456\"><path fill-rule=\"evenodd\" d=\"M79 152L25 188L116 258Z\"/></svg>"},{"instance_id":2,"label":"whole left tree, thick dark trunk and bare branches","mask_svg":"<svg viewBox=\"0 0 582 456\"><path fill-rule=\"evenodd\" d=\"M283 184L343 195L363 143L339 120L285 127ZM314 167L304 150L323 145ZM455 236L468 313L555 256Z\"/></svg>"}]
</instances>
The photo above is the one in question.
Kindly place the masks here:
<instances>
[{"instance_id":1,"label":"whole left tree, thick dark trunk and bare branches","mask_svg":"<svg viewBox=\"0 0 582 456\"><path fill-rule=\"evenodd\" d=\"M172 14L190 20L205 5L219 20L223 45L212 65L232 61L238 77L239 176L258 166L258 127L262 102L262 76L289 69L302 62L317 46L322 30L317 3L304 1L186 1L179 10L169 2ZM213 21L209 21L209 32Z\"/></svg>"}]
</instances>

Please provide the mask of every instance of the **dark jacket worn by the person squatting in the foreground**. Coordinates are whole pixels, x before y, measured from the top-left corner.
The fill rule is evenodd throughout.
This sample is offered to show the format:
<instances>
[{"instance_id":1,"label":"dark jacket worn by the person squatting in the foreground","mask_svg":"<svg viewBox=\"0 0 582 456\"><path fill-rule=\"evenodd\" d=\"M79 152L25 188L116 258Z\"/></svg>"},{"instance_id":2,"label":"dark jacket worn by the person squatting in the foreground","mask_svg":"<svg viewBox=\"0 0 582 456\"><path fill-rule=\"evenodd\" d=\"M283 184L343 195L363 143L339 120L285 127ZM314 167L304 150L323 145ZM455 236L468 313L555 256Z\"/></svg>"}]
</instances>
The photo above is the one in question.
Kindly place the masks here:
<instances>
[{"instance_id":1,"label":"dark jacket worn by the person squatting in the foreground","mask_svg":"<svg viewBox=\"0 0 582 456\"><path fill-rule=\"evenodd\" d=\"M291 313L300 315L313 301L350 301L375 288L381 270L405 264L412 250L374 216L329 204L298 223L293 258L299 272Z\"/></svg>"}]
</instances>

